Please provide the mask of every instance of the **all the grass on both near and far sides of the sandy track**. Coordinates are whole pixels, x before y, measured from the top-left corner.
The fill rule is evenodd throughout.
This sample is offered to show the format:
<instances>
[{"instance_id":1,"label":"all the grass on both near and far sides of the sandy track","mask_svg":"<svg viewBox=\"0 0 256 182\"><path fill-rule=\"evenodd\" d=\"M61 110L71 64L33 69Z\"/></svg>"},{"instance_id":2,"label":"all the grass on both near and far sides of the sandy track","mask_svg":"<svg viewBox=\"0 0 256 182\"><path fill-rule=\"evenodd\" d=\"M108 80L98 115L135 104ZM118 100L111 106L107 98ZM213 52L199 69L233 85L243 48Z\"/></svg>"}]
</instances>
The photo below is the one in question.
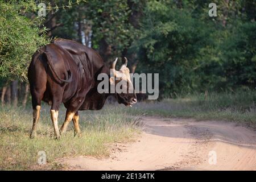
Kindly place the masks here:
<instances>
[{"instance_id":1,"label":"all the grass on both near and far sides of the sandy track","mask_svg":"<svg viewBox=\"0 0 256 182\"><path fill-rule=\"evenodd\" d=\"M49 106L44 105L38 126L38 136L29 139L32 126L31 109L0 107L0 169L42 169L37 164L38 152L45 151L47 169L57 169L56 158L65 156L107 156L111 144L129 141L139 133L137 117L213 119L240 122L256 126L256 92L210 93L188 95L161 102L141 102L133 107L105 105L99 111L80 111L82 137L73 137L73 125L66 135L53 139ZM65 109L59 113L59 125ZM256 128L256 127L255 127Z\"/></svg>"}]
</instances>

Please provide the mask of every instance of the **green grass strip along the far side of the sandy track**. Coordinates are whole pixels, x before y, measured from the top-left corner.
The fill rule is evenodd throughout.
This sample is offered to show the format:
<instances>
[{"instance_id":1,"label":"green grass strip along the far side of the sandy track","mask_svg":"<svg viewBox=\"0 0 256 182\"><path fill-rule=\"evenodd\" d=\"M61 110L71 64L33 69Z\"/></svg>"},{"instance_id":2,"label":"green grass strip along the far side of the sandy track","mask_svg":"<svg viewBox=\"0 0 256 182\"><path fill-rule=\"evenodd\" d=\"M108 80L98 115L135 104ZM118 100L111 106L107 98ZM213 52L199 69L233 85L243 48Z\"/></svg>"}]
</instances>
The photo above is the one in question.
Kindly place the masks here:
<instances>
[{"instance_id":1,"label":"green grass strip along the far side of the sandy track","mask_svg":"<svg viewBox=\"0 0 256 182\"><path fill-rule=\"evenodd\" d=\"M240 122L256 126L256 92L194 94L161 102L142 102L130 114Z\"/></svg>"}]
</instances>

